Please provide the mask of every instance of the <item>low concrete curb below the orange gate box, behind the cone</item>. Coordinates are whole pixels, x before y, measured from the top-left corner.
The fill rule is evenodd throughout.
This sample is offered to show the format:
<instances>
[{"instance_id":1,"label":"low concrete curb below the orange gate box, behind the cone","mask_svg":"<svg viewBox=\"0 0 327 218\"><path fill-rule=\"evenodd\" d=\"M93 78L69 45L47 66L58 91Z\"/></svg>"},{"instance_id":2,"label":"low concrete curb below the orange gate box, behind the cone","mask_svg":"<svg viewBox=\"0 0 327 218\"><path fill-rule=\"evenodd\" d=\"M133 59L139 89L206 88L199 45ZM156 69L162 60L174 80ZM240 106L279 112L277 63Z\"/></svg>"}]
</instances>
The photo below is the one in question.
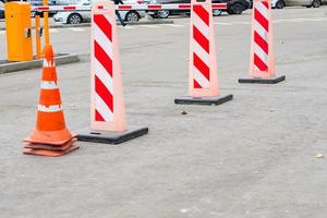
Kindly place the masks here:
<instances>
[{"instance_id":1,"label":"low concrete curb below the orange gate box, behind the cone","mask_svg":"<svg viewBox=\"0 0 327 218\"><path fill-rule=\"evenodd\" d=\"M55 57L55 60L57 65L62 65L66 63L78 62L80 58L77 55L74 53L58 53L58 56ZM0 64L0 74L40 68L43 66L43 63L44 63L43 59L33 60L33 61L2 63Z\"/></svg>"}]
</instances>

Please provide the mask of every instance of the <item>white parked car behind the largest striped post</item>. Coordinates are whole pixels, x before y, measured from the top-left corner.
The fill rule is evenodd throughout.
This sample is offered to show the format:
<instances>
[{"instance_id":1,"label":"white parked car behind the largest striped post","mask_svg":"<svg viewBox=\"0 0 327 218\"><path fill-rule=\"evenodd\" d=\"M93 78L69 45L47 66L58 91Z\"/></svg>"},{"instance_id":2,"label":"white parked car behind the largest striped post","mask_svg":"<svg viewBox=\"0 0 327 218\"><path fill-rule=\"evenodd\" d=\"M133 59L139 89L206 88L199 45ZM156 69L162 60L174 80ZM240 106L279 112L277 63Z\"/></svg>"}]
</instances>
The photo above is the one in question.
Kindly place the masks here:
<instances>
[{"instance_id":1,"label":"white parked car behind the largest striped post","mask_svg":"<svg viewBox=\"0 0 327 218\"><path fill-rule=\"evenodd\" d=\"M125 4L136 4L136 0L123 0ZM92 5L92 0L83 0L77 5ZM121 17L130 23L137 22L145 16L144 11L120 11ZM62 24L81 24L90 22L90 11L65 11L58 12L53 16L55 22Z\"/></svg>"}]
</instances>

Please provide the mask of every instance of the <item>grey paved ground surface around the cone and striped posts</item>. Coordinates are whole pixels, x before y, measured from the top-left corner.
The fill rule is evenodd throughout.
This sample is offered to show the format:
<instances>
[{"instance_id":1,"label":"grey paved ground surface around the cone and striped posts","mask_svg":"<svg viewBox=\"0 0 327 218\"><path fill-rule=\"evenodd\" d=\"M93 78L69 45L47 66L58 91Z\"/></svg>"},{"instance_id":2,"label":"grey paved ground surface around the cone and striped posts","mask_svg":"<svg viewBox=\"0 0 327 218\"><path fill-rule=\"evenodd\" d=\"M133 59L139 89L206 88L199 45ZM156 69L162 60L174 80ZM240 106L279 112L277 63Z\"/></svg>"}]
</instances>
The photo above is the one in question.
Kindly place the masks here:
<instances>
[{"instance_id":1,"label":"grey paved ground surface around the cone and striped posts","mask_svg":"<svg viewBox=\"0 0 327 218\"><path fill-rule=\"evenodd\" d=\"M277 73L287 75L278 85L237 83L249 69L250 13L215 19L220 90L234 95L218 107L173 105L187 89L187 19L120 29L128 121L149 134L78 143L61 158L22 155L40 71L0 75L0 217L325 218L326 9L274 11ZM51 35L57 52L84 55L58 66L72 131L89 120L83 29Z\"/></svg>"}]
</instances>

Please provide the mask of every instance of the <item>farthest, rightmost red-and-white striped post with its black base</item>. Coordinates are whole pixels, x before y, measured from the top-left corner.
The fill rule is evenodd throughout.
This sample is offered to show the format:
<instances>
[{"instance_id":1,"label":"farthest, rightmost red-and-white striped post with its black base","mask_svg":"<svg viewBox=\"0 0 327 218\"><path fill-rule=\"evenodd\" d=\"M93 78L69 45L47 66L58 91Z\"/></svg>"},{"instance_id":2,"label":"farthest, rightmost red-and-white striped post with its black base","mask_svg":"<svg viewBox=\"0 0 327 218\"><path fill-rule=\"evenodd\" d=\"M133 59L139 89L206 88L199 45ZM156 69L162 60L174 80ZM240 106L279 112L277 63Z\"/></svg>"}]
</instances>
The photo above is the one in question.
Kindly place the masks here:
<instances>
[{"instance_id":1,"label":"farthest, rightmost red-and-white striped post with its black base","mask_svg":"<svg viewBox=\"0 0 327 218\"><path fill-rule=\"evenodd\" d=\"M250 77L240 78L239 83L276 84L284 80L284 75L275 75L270 0L254 0L252 15Z\"/></svg>"}]
</instances>

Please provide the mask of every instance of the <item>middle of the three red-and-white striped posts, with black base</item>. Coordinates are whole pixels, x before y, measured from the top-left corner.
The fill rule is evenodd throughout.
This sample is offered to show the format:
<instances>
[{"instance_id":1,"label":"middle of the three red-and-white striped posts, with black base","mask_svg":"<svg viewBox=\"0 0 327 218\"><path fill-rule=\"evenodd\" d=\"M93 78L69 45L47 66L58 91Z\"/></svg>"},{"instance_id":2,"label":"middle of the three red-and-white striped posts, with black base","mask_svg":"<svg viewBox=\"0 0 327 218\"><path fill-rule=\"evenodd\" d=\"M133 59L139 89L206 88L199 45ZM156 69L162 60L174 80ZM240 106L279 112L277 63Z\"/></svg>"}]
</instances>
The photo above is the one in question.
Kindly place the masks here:
<instances>
[{"instance_id":1,"label":"middle of the three red-and-white striped posts, with black base","mask_svg":"<svg viewBox=\"0 0 327 218\"><path fill-rule=\"evenodd\" d=\"M220 105L233 98L219 96L215 25L211 0L191 1L189 95L175 98L181 105Z\"/></svg>"}]
</instances>

